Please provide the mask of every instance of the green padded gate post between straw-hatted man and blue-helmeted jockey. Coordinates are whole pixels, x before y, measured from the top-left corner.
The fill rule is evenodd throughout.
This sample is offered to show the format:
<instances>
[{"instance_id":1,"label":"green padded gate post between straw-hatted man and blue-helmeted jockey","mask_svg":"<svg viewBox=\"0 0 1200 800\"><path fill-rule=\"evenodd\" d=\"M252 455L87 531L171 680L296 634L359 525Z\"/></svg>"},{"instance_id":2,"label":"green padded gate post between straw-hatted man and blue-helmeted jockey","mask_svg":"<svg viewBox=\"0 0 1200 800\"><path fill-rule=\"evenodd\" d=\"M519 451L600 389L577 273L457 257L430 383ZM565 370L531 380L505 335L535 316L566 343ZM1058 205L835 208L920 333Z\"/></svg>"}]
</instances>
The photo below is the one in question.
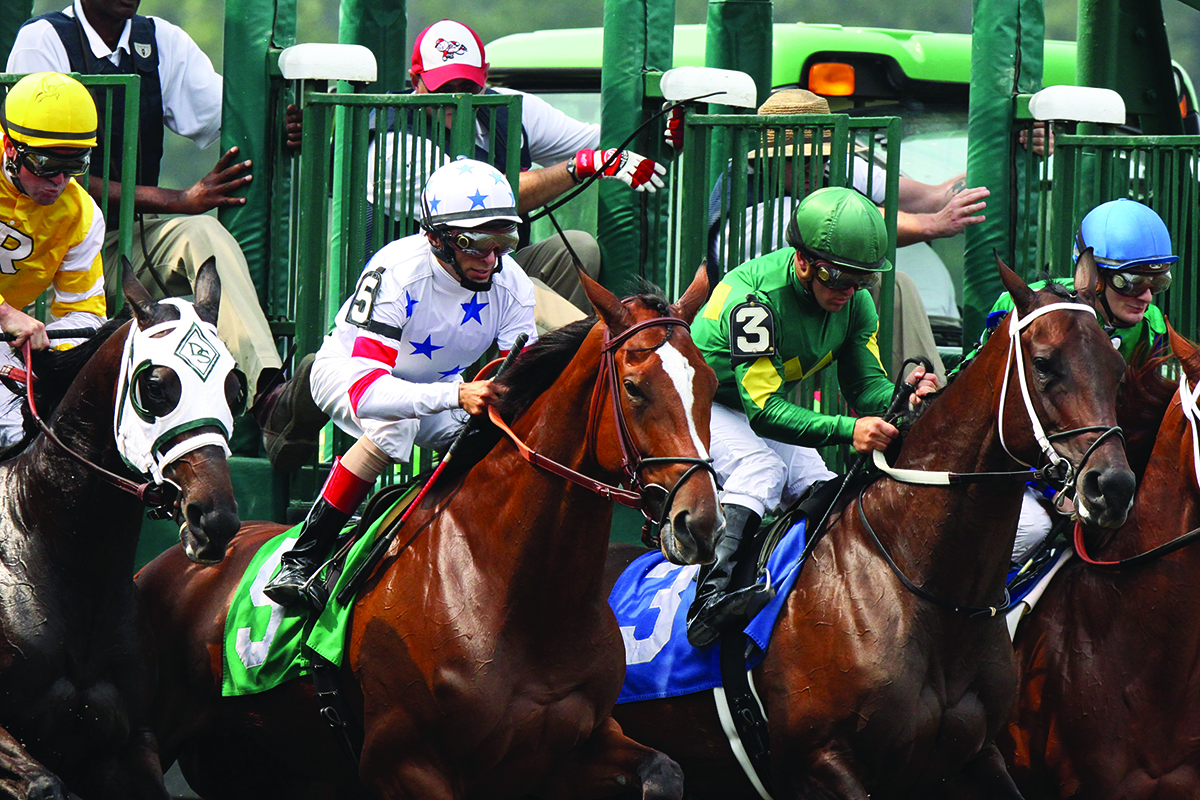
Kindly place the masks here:
<instances>
[{"instance_id":1,"label":"green padded gate post between straw-hatted man and blue-helmeted jockey","mask_svg":"<svg viewBox=\"0 0 1200 800\"><path fill-rule=\"evenodd\" d=\"M1013 103L1018 94L1042 88L1045 20L1042 0L976 0L971 52L967 185L991 191L986 222L966 229L962 270L962 349L979 341L984 318L1003 291L998 253L1013 264L1013 225L1019 186L1012 176ZM1020 170L1018 170L1020 172Z\"/></svg>"}]
</instances>

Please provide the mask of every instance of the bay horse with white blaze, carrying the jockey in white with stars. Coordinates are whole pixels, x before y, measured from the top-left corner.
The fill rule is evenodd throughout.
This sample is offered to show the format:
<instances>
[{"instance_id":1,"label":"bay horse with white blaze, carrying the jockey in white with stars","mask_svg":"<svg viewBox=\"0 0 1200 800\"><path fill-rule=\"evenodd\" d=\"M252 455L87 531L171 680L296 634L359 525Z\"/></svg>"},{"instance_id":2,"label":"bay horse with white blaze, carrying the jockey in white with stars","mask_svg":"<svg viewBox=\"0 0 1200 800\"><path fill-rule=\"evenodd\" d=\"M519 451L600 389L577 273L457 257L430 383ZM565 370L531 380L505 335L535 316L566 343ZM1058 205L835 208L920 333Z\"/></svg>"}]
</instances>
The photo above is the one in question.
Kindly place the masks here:
<instances>
[{"instance_id":1,"label":"bay horse with white blaze, carrying the jockey in white with stars","mask_svg":"<svg viewBox=\"0 0 1200 800\"><path fill-rule=\"evenodd\" d=\"M670 307L581 279L599 320L527 348L497 378L498 410L539 458L584 481L641 474L646 503L668 518L664 553L712 560L724 517L697 468L716 378L688 330L704 271ZM230 596L286 527L247 524L215 569L174 548L139 573L161 655L155 729L164 763L178 758L202 796L682 796L677 765L610 716L624 674L602 590L612 500L526 463L494 428L479 440L490 452L457 452L355 601L340 680L362 734L356 760L307 679L221 696Z\"/></svg>"}]
</instances>

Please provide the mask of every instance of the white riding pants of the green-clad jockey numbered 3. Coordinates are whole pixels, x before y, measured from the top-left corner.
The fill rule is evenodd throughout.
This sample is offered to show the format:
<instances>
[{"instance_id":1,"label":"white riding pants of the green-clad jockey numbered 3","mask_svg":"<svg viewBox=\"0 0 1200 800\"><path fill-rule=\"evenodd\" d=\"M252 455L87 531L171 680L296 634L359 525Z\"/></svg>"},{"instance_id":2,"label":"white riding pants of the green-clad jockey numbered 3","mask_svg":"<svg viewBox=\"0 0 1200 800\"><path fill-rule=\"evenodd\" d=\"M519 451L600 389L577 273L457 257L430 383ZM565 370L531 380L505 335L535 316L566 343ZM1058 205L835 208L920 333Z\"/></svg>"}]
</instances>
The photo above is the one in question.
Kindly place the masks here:
<instances>
[{"instance_id":1,"label":"white riding pants of the green-clad jockey numbered 3","mask_svg":"<svg viewBox=\"0 0 1200 800\"><path fill-rule=\"evenodd\" d=\"M763 439L742 411L713 403L713 468L721 503L745 506L760 517L787 507L817 481L834 477L812 447Z\"/></svg>"}]
</instances>

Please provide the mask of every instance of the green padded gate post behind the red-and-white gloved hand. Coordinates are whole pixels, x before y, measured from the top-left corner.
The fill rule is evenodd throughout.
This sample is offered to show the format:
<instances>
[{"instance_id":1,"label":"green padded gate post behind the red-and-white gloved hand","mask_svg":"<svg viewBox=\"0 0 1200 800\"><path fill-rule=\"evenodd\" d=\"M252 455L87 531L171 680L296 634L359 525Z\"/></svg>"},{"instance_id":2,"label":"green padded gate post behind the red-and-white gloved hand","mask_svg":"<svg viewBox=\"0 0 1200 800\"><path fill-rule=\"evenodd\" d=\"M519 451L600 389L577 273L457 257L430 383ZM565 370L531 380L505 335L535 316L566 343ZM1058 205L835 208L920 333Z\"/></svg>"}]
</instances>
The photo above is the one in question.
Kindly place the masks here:
<instances>
[{"instance_id":1,"label":"green padded gate post behind the red-and-white gloved hand","mask_svg":"<svg viewBox=\"0 0 1200 800\"><path fill-rule=\"evenodd\" d=\"M674 0L606 0L604 26L600 140L604 148L616 148L642 124L646 98L642 73L671 67ZM664 127L665 124L649 126L628 146L653 157L656 148L650 146L650 138L661 138ZM596 237L604 259L600 281L620 294L635 287L646 261L644 251L666 247L665 241L648 241L643 209L656 209L659 204L650 204L649 193L634 192L618 181L600 181L599 188Z\"/></svg>"}]
</instances>

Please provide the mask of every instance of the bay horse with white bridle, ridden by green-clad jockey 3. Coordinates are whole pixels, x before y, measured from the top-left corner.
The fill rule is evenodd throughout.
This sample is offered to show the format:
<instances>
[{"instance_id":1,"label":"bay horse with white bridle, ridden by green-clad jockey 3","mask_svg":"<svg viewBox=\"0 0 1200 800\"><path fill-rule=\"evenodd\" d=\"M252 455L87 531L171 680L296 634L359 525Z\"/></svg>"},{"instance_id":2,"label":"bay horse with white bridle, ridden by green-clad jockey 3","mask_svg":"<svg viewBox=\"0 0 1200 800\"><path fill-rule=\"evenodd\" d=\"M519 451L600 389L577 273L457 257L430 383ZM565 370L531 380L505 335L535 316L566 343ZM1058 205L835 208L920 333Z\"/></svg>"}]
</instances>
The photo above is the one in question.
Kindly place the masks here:
<instances>
[{"instance_id":1,"label":"bay horse with white bridle, ridden by green-clad jockey 3","mask_svg":"<svg viewBox=\"0 0 1200 800\"><path fill-rule=\"evenodd\" d=\"M1080 513L1105 525L1124 518L1134 477L1114 431L1123 362L1086 289L1091 255L1080 258L1085 289L1074 297L1057 284L1034 293L997 267L1016 311L926 397L895 462L913 470L905 481L938 474L943 485L882 477L835 509L752 670L770 750L763 788L776 800L1020 798L994 739L1016 686L998 608L1030 476L1021 467L1064 459ZM613 549L610 583L632 555ZM613 714L679 762L689 795L764 796L734 759L710 693Z\"/></svg>"}]
</instances>

